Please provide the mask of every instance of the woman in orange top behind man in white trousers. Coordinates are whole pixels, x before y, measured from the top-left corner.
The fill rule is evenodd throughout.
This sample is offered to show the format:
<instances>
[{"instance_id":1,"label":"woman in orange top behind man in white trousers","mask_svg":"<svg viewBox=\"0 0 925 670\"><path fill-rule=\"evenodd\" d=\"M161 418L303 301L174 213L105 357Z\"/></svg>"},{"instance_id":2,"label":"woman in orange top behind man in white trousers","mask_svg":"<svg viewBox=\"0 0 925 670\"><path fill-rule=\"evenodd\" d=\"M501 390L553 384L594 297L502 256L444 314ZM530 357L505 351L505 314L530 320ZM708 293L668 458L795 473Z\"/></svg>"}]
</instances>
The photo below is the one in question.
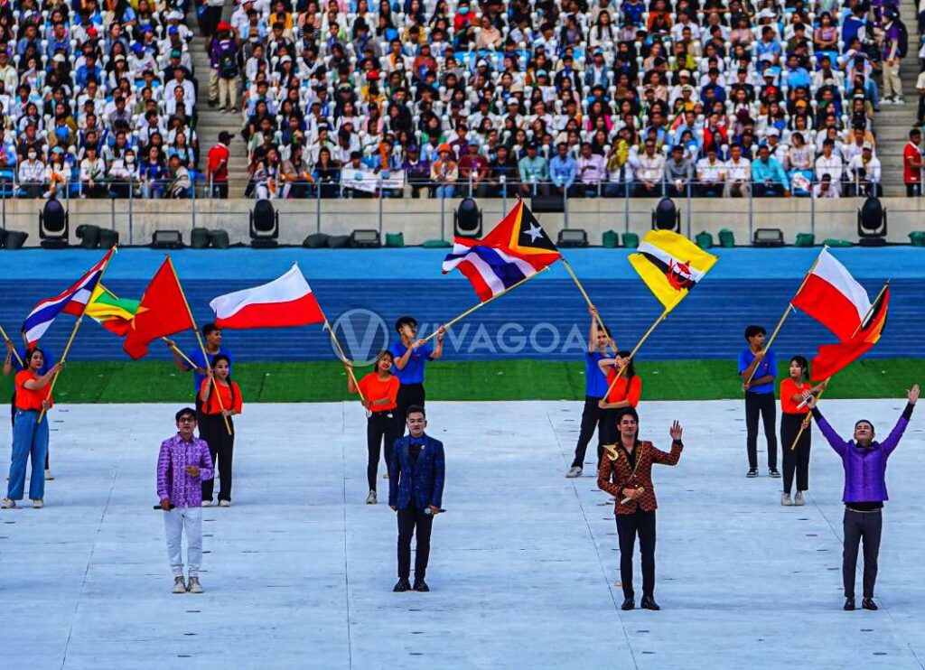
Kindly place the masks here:
<instances>
[{"instance_id":1,"label":"woman in orange top behind man in white trousers","mask_svg":"<svg viewBox=\"0 0 925 670\"><path fill-rule=\"evenodd\" d=\"M212 359L208 376L199 389L203 403L202 420L199 422L199 436L209 445L212 462L218 469L221 485L218 489L218 506L231 506L231 461L234 458L234 422L231 417L240 414L244 398L240 386L228 373L231 361L225 354ZM225 419L228 419L228 427ZM215 480L203 481L203 507L212 505Z\"/></svg>"}]
</instances>

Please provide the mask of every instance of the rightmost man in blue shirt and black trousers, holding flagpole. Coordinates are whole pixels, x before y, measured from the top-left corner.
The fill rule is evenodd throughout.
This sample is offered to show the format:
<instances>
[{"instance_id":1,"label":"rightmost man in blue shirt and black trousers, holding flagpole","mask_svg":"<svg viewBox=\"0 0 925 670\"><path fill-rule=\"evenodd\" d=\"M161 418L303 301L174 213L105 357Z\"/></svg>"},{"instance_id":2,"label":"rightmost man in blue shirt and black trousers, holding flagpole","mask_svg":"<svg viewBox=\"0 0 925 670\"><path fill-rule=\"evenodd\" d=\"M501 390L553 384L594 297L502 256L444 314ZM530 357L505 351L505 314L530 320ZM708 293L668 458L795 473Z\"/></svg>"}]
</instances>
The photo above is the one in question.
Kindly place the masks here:
<instances>
[{"instance_id":1,"label":"rightmost man in blue shirt and black trousers, holding flagpole","mask_svg":"<svg viewBox=\"0 0 925 670\"><path fill-rule=\"evenodd\" d=\"M780 477L777 471L777 433L774 408L774 379L777 377L777 357L771 349L765 351L766 332L759 325L746 328L748 348L739 354L739 377L746 393L747 477L758 477L758 420L764 423L768 441L768 474Z\"/></svg>"}]
</instances>

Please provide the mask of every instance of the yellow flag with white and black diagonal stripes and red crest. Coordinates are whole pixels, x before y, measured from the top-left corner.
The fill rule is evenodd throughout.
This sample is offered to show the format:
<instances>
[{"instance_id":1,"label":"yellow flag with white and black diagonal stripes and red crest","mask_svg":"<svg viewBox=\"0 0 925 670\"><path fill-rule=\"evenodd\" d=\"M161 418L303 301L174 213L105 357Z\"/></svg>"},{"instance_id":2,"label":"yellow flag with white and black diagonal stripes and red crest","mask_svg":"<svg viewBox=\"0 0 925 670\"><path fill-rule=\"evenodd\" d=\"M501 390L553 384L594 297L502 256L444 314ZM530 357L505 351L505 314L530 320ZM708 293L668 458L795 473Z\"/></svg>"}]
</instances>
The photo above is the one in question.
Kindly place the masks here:
<instances>
[{"instance_id":1,"label":"yellow flag with white and black diagonal stripes and red crest","mask_svg":"<svg viewBox=\"0 0 925 670\"><path fill-rule=\"evenodd\" d=\"M629 256L633 269L666 312L677 307L718 260L671 230L648 231L639 249Z\"/></svg>"}]
</instances>

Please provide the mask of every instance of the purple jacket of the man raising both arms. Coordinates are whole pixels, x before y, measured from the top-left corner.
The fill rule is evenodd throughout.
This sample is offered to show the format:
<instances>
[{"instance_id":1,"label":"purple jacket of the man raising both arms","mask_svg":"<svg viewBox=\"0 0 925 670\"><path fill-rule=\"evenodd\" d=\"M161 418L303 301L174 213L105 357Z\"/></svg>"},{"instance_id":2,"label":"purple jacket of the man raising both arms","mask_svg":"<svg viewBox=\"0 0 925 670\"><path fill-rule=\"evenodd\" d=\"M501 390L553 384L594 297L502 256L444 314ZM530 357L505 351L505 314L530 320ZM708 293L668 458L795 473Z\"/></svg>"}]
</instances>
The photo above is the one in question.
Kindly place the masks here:
<instances>
[{"instance_id":1,"label":"purple jacket of the man raising both arms","mask_svg":"<svg viewBox=\"0 0 925 670\"><path fill-rule=\"evenodd\" d=\"M857 446L854 440L845 442L825 420L819 408L813 409L822 436L832 445L835 453L842 457L842 467L845 469L842 500L845 503L878 503L890 499L886 493L886 461L906 431L912 408L912 405L906 406L885 440L874 441L867 447Z\"/></svg>"}]
</instances>

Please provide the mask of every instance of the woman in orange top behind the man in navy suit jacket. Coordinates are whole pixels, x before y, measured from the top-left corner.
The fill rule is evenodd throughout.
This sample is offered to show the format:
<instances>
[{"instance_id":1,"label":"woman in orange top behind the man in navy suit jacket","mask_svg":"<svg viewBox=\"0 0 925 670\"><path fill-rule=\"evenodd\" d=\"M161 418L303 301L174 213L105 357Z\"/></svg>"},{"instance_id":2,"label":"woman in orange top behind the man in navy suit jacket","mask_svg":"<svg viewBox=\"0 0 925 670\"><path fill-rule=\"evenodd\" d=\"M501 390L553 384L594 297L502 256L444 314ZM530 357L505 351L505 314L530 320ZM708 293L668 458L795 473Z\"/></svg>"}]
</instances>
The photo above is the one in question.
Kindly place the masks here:
<instances>
[{"instance_id":1,"label":"woman in orange top behind the man in navy suit jacket","mask_svg":"<svg viewBox=\"0 0 925 670\"><path fill-rule=\"evenodd\" d=\"M376 356L375 372L370 372L360 380L359 389L353 384L350 374L351 363L344 361L348 369L347 388L351 393L359 393L366 408L366 448L369 450L369 461L366 464L366 481L369 483L369 495L366 496L366 505L376 505L376 472L379 469L379 445L386 444L386 474L388 478L388 464L392 462L392 445L398 438L399 425L395 419L395 408L398 407L399 378L392 374L392 365L395 359L388 351Z\"/></svg>"}]
</instances>

